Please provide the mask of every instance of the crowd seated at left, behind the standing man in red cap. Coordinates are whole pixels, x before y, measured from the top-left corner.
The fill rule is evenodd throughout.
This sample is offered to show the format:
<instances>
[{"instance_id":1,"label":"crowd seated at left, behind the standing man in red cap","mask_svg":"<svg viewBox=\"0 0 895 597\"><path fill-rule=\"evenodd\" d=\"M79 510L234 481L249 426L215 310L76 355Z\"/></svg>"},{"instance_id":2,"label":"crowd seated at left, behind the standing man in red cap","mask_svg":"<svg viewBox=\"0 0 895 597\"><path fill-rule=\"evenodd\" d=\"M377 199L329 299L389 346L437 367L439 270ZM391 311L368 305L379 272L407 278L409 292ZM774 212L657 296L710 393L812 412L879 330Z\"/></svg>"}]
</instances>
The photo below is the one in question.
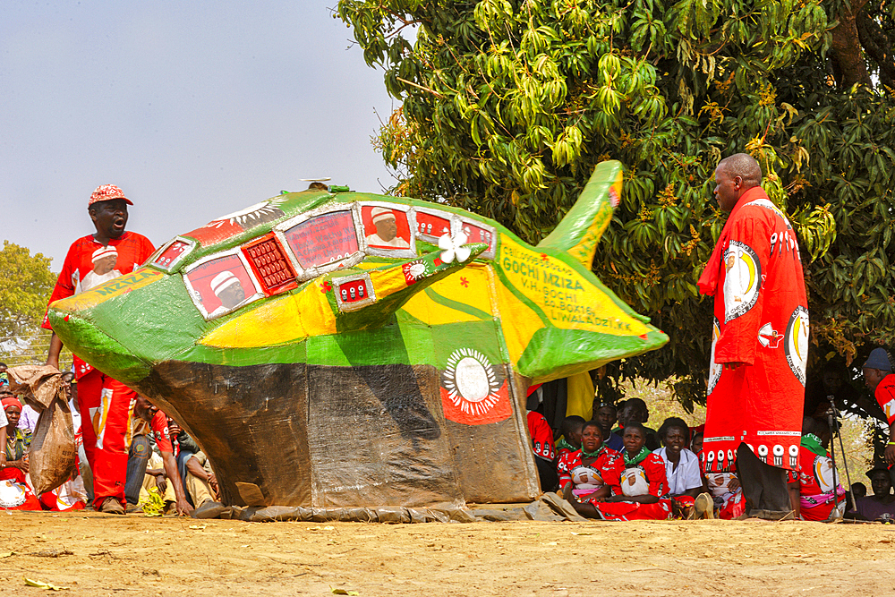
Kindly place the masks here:
<instances>
[{"instance_id":1,"label":"crowd seated at left, behind the standing man in red cap","mask_svg":"<svg viewBox=\"0 0 895 597\"><path fill-rule=\"evenodd\" d=\"M31 436L38 413L13 395L0 363L0 442L4 454L0 458L0 509L67 510L88 507L92 499L90 466L83 455L81 414L76 399L77 383L71 372L64 373L63 387L72 411L72 424L79 454L69 479L54 490L35 493L29 475ZM90 424L90 420L86 422ZM158 411L149 401L139 397L133 408L132 442L128 455L126 497L127 511L144 513L150 503L149 491L157 490L161 513L174 513L177 493L181 493L193 510L193 516L217 516L224 508L219 503L217 478L209 459L195 441L174 420ZM174 473L177 474L174 474ZM171 479L183 487L176 490ZM147 507L149 511L149 507ZM148 512L147 512L148 513ZM155 512L153 512L155 513Z\"/></svg>"}]
</instances>

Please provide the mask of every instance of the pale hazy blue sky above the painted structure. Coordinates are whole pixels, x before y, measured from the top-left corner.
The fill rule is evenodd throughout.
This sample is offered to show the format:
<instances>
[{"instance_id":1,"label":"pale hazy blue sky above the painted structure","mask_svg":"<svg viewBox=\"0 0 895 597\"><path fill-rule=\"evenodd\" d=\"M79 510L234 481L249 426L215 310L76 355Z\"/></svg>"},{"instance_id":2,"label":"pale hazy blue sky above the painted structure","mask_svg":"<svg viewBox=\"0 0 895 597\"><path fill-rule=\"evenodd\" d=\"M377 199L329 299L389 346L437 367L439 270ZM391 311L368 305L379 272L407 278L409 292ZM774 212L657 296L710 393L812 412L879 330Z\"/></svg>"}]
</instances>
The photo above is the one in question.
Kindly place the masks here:
<instances>
[{"instance_id":1,"label":"pale hazy blue sky above the painted structure","mask_svg":"<svg viewBox=\"0 0 895 597\"><path fill-rule=\"evenodd\" d=\"M384 192L396 103L336 1L4 0L0 237L58 271L104 183L157 246L302 178Z\"/></svg>"}]
</instances>

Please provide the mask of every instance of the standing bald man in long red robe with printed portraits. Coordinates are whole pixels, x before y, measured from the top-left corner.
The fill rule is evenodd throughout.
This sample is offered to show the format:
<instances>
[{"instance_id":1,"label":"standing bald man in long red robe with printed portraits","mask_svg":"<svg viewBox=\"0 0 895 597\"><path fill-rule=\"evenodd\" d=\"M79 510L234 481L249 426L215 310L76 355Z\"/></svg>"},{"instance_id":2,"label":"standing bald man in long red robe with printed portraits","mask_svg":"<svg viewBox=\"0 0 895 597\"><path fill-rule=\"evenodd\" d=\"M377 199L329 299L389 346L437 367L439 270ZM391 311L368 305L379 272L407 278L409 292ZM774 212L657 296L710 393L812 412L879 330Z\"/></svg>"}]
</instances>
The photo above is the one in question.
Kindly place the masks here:
<instances>
[{"instance_id":1,"label":"standing bald man in long red robe with printed portraits","mask_svg":"<svg viewBox=\"0 0 895 597\"><path fill-rule=\"evenodd\" d=\"M761 181L747 154L715 169L714 195L730 216L699 278L700 292L715 299L703 458L707 472L737 469L754 510L788 511L785 470L798 467L808 309L795 232Z\"/></svg>"}]
</instances>

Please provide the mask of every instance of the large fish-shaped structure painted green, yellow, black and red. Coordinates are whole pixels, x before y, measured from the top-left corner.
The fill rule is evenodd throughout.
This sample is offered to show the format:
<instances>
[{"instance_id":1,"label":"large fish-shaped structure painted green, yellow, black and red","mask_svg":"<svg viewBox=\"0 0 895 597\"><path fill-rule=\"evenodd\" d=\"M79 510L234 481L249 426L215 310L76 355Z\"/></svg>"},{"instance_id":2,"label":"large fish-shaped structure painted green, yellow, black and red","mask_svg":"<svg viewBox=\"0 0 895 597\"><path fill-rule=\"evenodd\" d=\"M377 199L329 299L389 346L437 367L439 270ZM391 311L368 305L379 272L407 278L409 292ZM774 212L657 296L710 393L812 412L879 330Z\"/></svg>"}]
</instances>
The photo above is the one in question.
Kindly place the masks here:
<instances>
[{"instance_id":1,"label":"large fish-shaped structure painted green, yellow, black and red","mask_svg":"<svg viewBox=\"0 0 895 597\"><path fill-rule=\"evenodd\" d=\"M192 434L227 504L533 499L530 384L668 341L591 271L621 181L597 166L536 247L439 203L284 193L49 319Z\"/></svg>"}]
</instances>

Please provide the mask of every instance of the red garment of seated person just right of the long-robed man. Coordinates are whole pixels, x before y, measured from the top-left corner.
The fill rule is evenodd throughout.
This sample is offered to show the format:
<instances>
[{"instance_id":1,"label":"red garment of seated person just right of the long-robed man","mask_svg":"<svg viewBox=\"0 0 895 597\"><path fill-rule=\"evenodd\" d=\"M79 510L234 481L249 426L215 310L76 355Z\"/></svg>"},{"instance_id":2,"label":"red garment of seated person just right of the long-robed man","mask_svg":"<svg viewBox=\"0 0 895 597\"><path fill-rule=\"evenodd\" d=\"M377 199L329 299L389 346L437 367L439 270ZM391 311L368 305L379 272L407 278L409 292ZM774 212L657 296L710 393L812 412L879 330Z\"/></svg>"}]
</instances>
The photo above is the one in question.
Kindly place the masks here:
<instances>
[{"instance_id":1,"label":"red garment of seated person just right of the long-robed man","mask_svg":"<svg viewBox=\"0 0 895 597\"><path fill-rule=\"evenodd\" d=\"M830 453L813 433L802 438L798 450L798 495L802 520L825 522L830 520L836 497L845 496L845 488L839 483L833 491L833 465Z\"/></svg>"}]
</instances>

